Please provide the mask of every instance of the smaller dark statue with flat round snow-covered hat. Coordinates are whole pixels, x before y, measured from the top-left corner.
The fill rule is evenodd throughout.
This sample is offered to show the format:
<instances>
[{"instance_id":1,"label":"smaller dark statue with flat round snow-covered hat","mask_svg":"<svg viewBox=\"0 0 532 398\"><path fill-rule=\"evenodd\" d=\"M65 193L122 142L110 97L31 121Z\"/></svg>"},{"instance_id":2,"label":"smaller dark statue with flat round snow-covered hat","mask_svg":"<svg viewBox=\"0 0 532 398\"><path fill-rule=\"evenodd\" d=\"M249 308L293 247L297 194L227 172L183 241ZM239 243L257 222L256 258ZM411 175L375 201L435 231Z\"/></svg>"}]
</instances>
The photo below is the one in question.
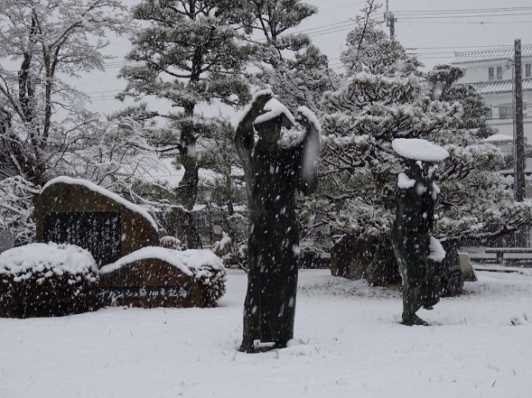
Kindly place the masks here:
<instances>
[{"instance_id":1,"label":"smaller dark statue with flat round snow-covered hat","mask_svg":"<svg viewBox=\"0 0 532 398\"><path fill-rule=\"evenodd\" d=\"M394 151L406 162L397 176L396 218L392 245L403 278L404 325L424 325L415 312L432 310L440 298L441 264L445 251L432 231L439 192L434 182L439 162L449 156L441 146L421 139L398 138Z\"/></svg>"}]
</instances>

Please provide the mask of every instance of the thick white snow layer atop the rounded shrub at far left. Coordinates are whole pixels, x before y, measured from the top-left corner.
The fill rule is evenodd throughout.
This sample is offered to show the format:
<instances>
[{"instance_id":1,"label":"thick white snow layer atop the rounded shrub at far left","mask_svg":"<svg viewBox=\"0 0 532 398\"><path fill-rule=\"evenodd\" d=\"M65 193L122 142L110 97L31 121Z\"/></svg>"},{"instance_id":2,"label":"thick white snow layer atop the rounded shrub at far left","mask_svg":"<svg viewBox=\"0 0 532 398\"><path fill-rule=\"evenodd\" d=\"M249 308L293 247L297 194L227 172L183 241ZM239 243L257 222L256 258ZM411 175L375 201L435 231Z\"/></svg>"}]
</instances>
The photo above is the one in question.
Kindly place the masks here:
<instances>
[{"instance_id":1,"label":"thick white snow layer atop the rounded shrub at far left","mask_svg":"<svg viewBox=\"0 0 532 398\"><path fill-rule=\"evenodd\" d=\"M9 249L0 254L0 274L16 275L15 282L30 279L33 273L39 277L97 272L98 268L89 251L66 244L33 243Z\"/></svg>"}]
</instances>

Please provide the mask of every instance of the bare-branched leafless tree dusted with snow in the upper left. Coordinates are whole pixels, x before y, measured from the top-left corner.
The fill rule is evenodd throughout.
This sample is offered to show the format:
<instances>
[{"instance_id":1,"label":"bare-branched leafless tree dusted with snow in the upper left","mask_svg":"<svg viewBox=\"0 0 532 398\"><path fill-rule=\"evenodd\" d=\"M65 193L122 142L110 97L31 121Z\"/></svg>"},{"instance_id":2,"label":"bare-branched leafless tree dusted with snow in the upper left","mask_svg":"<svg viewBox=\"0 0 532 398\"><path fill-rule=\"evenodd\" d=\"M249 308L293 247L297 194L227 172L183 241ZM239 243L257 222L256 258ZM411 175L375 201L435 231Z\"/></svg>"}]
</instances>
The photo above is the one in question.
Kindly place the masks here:
<instances>
[{"instance_id":1,"label":"bare-branched leafless tree dusted with snow in the upper left","mask_svg":"<svg viewBox=\"0 0 532 398\"><path fill-rule=\"evenodd\" d=\"M35 185L96 119L66 78L103 69L109 32L126 32L118 0L0 0L0 143L11 173Z\"/></svg>"}]
</instances>

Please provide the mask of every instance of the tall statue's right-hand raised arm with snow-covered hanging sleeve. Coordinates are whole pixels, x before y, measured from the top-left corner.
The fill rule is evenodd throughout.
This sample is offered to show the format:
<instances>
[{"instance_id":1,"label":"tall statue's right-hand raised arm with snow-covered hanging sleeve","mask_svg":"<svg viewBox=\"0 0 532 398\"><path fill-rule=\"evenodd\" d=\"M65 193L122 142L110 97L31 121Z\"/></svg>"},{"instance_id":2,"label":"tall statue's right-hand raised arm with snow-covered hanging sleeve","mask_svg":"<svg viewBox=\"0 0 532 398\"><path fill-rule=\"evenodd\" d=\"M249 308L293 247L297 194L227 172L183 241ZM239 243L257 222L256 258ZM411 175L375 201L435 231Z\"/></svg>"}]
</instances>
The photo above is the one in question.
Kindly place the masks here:
<instances>
[{"instance_id":1,"label":"tall statue's right-hand raised arm with snow-covered hanging sleeve","mask_svg":"<svg viewBox=\"0 0 532 398\"><path fill-rule=\"evenodd\" d=\"M303 195L310 195L318 186L321 128L313 112L304 106L300 106L297 110L297 122L306 128L300 146L298 189L303 192Z\"/></svg>"}]
</instances>

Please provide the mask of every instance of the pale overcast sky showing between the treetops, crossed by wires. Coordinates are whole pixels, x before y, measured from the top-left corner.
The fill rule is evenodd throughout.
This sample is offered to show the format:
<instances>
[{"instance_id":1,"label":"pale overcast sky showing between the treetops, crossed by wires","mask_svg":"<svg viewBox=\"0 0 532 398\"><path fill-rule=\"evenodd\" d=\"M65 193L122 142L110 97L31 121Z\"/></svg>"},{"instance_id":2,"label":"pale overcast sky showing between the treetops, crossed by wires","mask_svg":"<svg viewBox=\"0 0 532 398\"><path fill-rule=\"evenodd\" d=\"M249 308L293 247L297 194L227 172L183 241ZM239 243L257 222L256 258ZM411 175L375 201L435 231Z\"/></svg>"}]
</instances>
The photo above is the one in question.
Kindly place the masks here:
<instances>
[{"instance_id":1,"label":"pale overcast sky showing between the treetops, crossed by wires","mask_svg":"<svg viewBox=\"0 0 532 398\"><path fill-rule=\"evenodd\" d=\"M138 0L123 0L124 5L135 5ZM307 32L313 42L329 56L332 68L340 68L340 53L345 37L354 26L364 0L306 0L317 5L319 12L303 22L298 31ZM386 10L386 0L378 17ZM519 7L523 7L518 9ZM462 11L457 11L462 10ZM473 11L474 10L474 11ZM491 47L513 47L514 40L523 45L532 44L532 6L529 0L389 0L389 11L395 13L396 37L399 42L419 54L425 69L437 63L450 62L454 51L485 50ZM387 30L386 24L383 28ZM123 55L129 42L113 40L109 53L116 60L107 62L105 73L94 72L79 80L79 88L89 93L93 108L108 112L120 107L114 98L124 88L124 80L117 79L124 64Z\"/></svg>"}]
</instances>

